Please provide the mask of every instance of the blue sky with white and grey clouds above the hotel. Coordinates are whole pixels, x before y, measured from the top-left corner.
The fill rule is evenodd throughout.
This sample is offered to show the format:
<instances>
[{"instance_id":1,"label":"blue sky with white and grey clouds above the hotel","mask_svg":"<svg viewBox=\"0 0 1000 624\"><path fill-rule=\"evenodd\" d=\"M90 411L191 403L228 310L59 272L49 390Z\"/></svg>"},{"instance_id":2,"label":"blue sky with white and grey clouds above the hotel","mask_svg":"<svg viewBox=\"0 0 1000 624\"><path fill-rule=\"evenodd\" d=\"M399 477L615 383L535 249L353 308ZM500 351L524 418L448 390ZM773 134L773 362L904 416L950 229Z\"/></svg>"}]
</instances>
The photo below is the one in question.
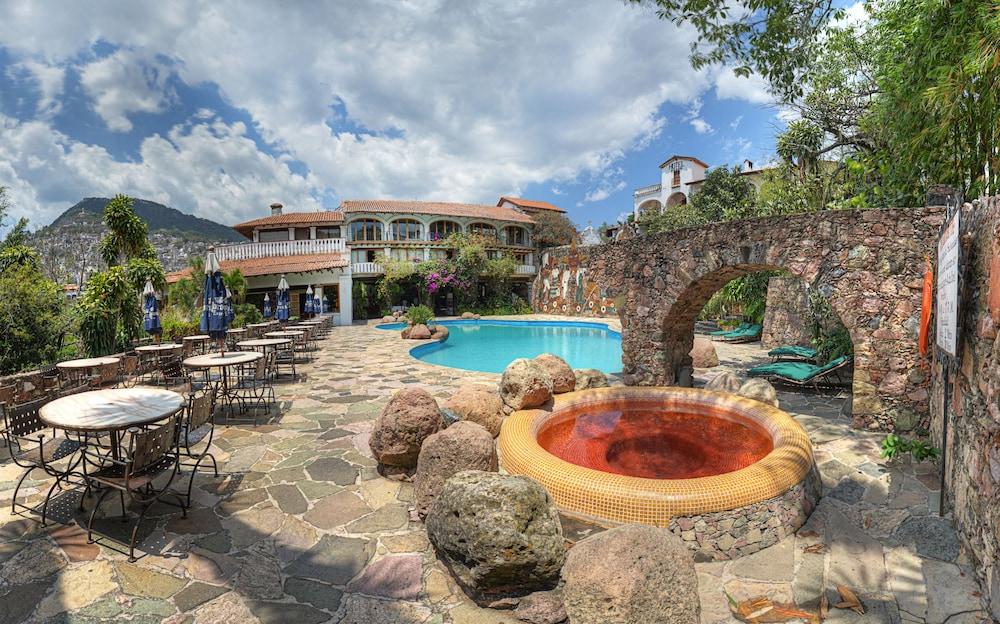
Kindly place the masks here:
<instances>
[{"instance_id":1,"label":"blue sky with white and grey clouds above the hotel","mask_svg":"<svg viewBox=\"0 0 1000 624\"><path fill-rule=\"evenodd\" d=\"M631 210L674 154L771 158L756 77L621 0L0 0L0 186L34 227L125 193L233 224L344 199Z\"/></svg>"}]
</instances>

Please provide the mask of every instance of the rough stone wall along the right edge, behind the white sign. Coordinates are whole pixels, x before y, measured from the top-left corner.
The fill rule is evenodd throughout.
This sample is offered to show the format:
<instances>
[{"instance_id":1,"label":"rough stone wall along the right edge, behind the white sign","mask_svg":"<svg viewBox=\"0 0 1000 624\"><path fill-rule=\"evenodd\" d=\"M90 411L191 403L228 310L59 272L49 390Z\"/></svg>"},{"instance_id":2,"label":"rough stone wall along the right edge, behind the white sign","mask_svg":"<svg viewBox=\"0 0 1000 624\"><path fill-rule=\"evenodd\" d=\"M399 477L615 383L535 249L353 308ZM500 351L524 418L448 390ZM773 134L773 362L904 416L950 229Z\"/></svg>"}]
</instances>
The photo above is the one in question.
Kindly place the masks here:
<instances>
[{"instance_id":1,"label":"rough stone wall along the right edge, behind the white sign","mask_svg":"<svg viewBox=\"0 0 1000 624\"><path fill-rule=\"evenodd\" d=\"M966 204L959 362L947 413L946 500L1000 620L1000 197ZM933 257L933 256L932 256ZM944 370L932 364L931 431L942 442Z\"/></svg>"}]
</instances>

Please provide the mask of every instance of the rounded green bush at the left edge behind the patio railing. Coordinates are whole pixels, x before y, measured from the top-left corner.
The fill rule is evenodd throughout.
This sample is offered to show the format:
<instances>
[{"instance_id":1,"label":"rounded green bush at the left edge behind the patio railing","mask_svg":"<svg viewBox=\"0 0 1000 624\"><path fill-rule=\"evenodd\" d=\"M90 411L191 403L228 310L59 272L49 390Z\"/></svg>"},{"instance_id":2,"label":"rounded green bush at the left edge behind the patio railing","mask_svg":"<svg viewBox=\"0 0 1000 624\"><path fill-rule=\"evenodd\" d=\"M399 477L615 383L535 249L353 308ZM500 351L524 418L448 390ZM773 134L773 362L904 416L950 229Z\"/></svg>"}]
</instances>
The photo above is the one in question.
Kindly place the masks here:
<instances>
[{"instance_id":1,"label":"rounded green bush at the left edge behind the patio railing","mask_svg":"<svg viewBox=\"0 0 1000 624\"><path fill-rule=\"evenodd\" d=\"M0 375L51 362L59 353L67 321L59 286L36 267L0 271Z\"/></svg>"}]
</instances>

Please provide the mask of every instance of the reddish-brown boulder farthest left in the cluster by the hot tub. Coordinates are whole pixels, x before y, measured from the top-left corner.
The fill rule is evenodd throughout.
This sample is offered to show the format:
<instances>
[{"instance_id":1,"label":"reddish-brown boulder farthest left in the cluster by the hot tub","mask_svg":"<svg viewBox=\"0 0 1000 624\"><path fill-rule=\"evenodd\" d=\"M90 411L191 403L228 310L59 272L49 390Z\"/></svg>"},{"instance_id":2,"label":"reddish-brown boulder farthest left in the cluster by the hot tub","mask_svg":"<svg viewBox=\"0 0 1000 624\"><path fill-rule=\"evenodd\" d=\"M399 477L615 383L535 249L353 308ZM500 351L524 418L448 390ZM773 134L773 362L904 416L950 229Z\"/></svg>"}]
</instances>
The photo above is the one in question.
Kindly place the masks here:
<instances>
[{"instance_id":1,"label":"reddish-brown boulder farthest left in the cluster by the hot tub","mask_svg":"<svg viewBox=\"0 0 1000 624\"><path fill-rule=\"evenodd\" d=\"M434 397L423 388L405 388L382 410L368 445L380 464L413 468L420 445L441 429L444 419Z\"/></svg>"}]
</instances>

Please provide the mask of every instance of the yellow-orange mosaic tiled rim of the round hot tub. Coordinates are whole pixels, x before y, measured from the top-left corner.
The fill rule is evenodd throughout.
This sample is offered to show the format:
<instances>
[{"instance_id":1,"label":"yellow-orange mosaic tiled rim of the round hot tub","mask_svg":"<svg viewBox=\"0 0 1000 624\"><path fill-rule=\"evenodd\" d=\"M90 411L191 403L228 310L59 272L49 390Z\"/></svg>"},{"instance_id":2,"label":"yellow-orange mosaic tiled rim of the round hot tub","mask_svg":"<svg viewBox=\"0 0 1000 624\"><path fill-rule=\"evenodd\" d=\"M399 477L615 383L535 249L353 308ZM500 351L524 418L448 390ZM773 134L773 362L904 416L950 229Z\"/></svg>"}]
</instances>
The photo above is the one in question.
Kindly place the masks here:
<instances>
[{"instance_id":1,"label":"yellow-orange mosaic tiled rim of the round hot tub","mask_svg":"<svg viewBox=\"0 0 1000 624\"><path fill-rule=\"evenodd\" d=\"M774 449L750 466L692 479L647 479L577 466L542 448L542 426L567 410L654 401L665 409L707 409L714 417L751 421ZM500 431L500 461L511 474L542 483L564 511L598 520L665 527L672 517L728 511L781 496L813 467L806 431L786 412L751 399L693 388L616 386L557 395L551 411L523 410Z\"/></svg>"}]
</instances>

